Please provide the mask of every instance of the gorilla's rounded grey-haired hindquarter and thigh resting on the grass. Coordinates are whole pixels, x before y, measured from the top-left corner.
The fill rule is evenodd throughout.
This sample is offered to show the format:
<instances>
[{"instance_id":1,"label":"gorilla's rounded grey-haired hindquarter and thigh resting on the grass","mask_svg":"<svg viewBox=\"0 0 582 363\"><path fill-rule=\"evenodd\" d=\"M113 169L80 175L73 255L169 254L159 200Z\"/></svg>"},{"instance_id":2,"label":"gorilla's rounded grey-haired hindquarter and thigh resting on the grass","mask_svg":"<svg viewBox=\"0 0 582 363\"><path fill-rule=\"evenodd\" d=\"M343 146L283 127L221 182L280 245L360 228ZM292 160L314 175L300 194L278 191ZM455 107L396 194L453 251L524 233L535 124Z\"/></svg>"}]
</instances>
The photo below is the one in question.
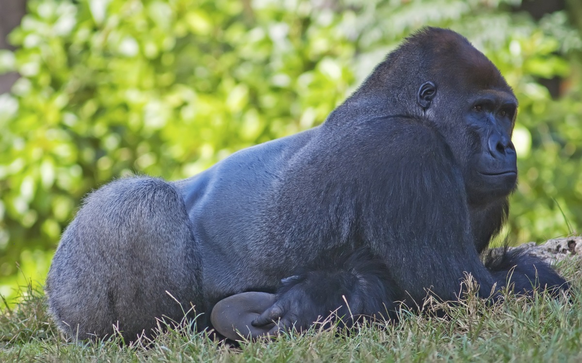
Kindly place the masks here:
<instances>
[{"instance_id":1,"label":"gorilla's rounded grey-haired hindquarter and thigh resting on the grass","mask_svg":"<svg viewBox=\"0 0 582 363\"><path fill-rule=\"evenodd\" d=\"M172 185L126 178L87 196L47 276L49 312L70 337L151 335L155 318L204 311L200 250ZM171 296L170 296L171 294ZM182 305L180 307L180 304Z\"/></svg>"}]
</instances>

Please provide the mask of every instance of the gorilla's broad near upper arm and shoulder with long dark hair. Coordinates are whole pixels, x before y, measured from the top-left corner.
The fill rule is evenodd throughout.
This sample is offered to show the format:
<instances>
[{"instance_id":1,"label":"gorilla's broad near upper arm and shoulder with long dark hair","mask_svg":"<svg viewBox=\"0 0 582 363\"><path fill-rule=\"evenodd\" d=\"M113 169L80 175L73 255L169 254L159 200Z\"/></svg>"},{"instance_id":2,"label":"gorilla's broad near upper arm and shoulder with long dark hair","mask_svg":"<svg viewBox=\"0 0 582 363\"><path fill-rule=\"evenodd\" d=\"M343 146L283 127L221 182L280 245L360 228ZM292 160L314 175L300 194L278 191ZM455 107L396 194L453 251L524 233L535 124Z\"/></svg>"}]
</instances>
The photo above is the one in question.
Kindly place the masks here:
<instances>
[{"instance_id":1,"label":"gorilla's broad near upper arm and shoulder with long dark hair","mask_svg":"<svg viewBox=\"0 0 582 363\"><path fill-rule=\"evenodd\" d=\"M422 121L375 123L382 124L373 127L382 135L376 153L385 161L362 163L359 171L370 183L361 217L365 243L416 303L427 289L456 300L466 273L488 297L493 279L475 250L462 173L449 146Z\"/></svg>"}]
</instances>

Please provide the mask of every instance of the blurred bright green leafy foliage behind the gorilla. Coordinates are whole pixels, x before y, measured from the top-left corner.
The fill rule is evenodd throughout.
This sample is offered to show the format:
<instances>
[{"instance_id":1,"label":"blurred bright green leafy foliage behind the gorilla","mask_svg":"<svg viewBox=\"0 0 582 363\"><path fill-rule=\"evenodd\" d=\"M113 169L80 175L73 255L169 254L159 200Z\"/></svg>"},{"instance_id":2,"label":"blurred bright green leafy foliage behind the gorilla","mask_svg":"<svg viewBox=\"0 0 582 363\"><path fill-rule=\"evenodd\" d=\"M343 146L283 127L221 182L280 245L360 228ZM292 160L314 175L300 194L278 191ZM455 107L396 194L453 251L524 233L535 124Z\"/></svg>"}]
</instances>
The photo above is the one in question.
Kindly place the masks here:
<instances>
[{"instance_id":1,"label":"blurred bright green leafy foliage behind the gorilla","mask_svg":"<svg viewBox=\"0 0 582 363\"><path fill-rule=\"evenodd\" d=\"M1 0L0 294L44 282L87 192L320 124L428 25L469 38L519 98L503 235L580 231L580 0Z\"/></svg>"}]
</instances>

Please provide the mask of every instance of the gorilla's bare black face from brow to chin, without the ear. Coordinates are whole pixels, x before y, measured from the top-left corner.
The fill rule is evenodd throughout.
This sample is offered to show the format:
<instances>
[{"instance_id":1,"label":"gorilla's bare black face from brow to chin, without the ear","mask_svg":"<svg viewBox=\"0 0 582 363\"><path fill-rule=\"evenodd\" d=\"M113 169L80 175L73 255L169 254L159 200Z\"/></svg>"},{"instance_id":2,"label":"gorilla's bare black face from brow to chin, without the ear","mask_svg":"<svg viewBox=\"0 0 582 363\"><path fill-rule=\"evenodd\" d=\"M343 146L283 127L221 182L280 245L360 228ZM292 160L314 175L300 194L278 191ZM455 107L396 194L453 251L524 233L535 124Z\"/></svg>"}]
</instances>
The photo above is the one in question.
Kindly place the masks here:
<instances>
[{"instance_id":1,"label":"gorilla's bare black face from brow to chin, without the ear","mask_svg":"<svg viewBox=\"0 0 582 363\"><path fill-rule=\"evenodd\" d=\"M517 110L512 92L489 90L469 100L464 125L473 141L465 168L470 202L506 197L517 184L517 157L511 141Z\"/></svg>"}]
</instances>

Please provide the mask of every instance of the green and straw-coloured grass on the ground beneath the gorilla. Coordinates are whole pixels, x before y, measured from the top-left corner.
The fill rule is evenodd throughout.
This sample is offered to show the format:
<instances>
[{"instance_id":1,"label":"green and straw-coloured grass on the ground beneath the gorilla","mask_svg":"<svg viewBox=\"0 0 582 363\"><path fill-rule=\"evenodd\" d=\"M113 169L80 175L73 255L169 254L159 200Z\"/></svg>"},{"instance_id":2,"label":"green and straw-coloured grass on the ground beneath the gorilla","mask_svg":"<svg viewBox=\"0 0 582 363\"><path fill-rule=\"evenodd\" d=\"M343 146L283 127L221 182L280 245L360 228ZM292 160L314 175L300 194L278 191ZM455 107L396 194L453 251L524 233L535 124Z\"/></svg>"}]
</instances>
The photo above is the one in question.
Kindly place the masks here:
<instances>
[{"instance_id":1,"label":"green and straw-coloured grass on the ground beneath the gorilla","mask_svg":"<svg viewBox=\"0 0 582 363\"><path fill-rule=\"evenodd\" d=\"M559 270L572 298L508 296L496 306L469 294L448 318L401 312L399 324L365 325L350 332L311 329L272 341L232 346L193 326L170 329L130 346L67 342L50 321L42 292L30 287L0 315L0 362L580 362L582 261Z\"/></svg>"}]
</instances>

